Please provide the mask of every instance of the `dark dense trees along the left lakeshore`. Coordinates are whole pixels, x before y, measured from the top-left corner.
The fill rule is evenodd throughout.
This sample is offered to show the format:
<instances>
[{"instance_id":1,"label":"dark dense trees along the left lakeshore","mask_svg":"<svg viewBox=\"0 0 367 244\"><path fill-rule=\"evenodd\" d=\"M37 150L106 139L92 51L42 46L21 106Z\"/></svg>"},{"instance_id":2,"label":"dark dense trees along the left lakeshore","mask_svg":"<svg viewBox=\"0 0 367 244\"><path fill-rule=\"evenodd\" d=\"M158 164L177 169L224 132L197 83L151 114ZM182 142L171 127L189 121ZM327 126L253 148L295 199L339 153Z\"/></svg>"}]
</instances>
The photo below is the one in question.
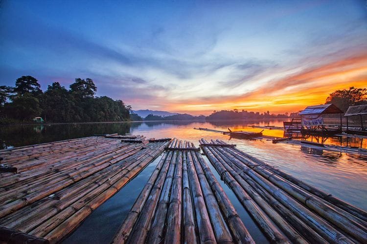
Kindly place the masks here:
<instances>
[{"instance_id":1,"label":"dark dense trees along the left lakeshore","mask_svg":"<svg viewBox=\"0 0 367 244\"><path fill-rule=\"evenodd\" d=\"M130 121L131 106L109 97L95 97L92 79L75 79L69 90L53 82L43 92L37 79L22 76L15 87L0 86L0 122L31 122L42 117L46 122ZM132 114L134 120L142 120Z\"/></svg>"}]
</instances>

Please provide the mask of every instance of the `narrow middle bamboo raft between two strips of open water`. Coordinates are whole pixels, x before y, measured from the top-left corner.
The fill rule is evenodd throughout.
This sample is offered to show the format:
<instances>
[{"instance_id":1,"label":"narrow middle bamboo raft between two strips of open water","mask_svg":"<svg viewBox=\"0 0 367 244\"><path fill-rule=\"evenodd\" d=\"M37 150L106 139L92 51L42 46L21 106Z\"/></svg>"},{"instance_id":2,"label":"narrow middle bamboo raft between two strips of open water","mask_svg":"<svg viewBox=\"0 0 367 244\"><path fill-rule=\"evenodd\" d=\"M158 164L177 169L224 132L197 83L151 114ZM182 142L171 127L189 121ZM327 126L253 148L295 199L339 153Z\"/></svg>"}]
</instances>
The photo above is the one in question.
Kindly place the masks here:
<instances>
[{"instance_id":1,"label":"narrow middle bamboo raft between two strips of open water","mask_svg":"<svg viewBox=\"0 0 367 244\"><path fill-rule=\"evenodd\" d=\"M114 243L253 243L194 145L174 139L168 148Z\"/></svg>"}]
</instances>

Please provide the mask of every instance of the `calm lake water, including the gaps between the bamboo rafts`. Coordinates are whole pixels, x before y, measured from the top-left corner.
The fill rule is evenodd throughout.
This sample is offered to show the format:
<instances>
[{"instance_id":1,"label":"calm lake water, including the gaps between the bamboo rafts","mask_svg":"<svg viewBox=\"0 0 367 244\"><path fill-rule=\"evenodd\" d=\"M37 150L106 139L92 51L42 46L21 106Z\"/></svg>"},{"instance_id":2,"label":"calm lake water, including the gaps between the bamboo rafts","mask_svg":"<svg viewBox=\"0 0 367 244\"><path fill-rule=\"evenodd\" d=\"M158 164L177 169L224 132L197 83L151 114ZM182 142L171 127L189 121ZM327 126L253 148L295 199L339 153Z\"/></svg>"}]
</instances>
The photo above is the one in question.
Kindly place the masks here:
<instances>
[{"instance_id":1,"label":"calm lake water, including the gaps between the bamboo rafts","mask_svg":"<svg viewBox=\"0 0 367 244\"><path fill-rule=\"evenodd\" d=\"M272 121L233 121L233 122L131 122L131 123L76 123L52 125L23 125L0 127L0 139L6 146L22 146L43 142L92 136L93 134L132 134L148 138L176 137L199 145L199 139L221 139L229 137L220 133L194 130L194 127L217 130L261 131L249 125L282 126L283 120ZM281 130L265 129L264 135L283 137ZM309 138L326 144L367 147L367 139L356 138ZM306 146L285 143L273 144L270 140L230 139L237 147L293 176L329 192L346 202L367 210L367 158L356 154L312 149ZM110 243L119 225L138 197L159 158L147 166L136 178L123 187L114 197L98 207L69 236L65 243ZM264 235L254 224L246 210L238 202L233 192L224 184L214 168L213 173L222 184L241 219L258 243L266 243Z\"/></svg>"}]
</instances>

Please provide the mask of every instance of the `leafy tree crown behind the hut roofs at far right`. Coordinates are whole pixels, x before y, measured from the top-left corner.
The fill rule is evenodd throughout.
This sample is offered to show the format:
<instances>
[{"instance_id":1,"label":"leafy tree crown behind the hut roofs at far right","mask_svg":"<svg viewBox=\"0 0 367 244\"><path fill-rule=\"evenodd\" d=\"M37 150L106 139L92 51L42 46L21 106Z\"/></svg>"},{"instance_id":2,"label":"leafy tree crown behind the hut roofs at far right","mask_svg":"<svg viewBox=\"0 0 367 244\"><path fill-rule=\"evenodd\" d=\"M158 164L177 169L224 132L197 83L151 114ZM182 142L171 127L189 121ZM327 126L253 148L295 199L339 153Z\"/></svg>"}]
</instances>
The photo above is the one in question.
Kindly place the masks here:
<instances>
[{"instance_id":1,"label":"leafy tree crown behind the hut roofs at far right","mask_svg":"<svg viewBox=\"0 0 367 244\"><path fill-rule=\"evenodd\" d=\"M352 86L348 90L336 90L330 93L325 103L333 103L346 112L349 106L367 104L367 89Z\"/></svg>"}]
</instances>

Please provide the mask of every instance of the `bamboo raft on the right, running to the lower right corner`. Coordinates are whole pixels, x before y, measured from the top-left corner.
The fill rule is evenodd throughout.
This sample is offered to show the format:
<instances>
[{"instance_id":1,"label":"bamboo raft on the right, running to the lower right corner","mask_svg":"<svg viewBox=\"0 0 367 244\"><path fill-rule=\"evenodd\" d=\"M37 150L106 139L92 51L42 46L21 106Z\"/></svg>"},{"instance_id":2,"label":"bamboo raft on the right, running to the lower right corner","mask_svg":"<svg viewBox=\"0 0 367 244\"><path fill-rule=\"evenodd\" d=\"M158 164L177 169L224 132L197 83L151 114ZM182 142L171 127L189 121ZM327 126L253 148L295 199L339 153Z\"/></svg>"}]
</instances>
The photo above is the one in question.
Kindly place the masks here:
<instances>
[{"instance_id":1,"label":"bamboo raft on the right, running to the lower right corner","mask_svg":"<svg viewBox=\"0 0 367 244\"><path fill-rule=\"evenodd\" d=\"M235 147L209 146L204 139L200 143L271 241L287 237L292 243L367 243L365 211ZM226 144L220 140L211 143Z\"/></svg>"}]
</instances>

